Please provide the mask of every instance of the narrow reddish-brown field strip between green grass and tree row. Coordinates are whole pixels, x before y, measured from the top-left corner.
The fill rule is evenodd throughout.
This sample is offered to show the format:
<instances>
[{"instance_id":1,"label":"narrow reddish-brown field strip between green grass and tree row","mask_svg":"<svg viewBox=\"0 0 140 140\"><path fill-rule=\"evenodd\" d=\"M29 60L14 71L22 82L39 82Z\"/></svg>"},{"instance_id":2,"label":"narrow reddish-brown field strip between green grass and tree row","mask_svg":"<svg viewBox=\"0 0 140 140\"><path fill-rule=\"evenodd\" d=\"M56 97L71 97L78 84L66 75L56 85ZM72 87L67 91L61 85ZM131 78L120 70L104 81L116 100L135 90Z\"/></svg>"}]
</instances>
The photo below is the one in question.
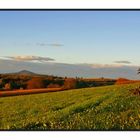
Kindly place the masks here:
<instances>
[{"instance_id":1,"label":"narrow reddish-brown field strip between green grass and tree row","mask_svg":"<svg viewBox=\"0 0 140 140\"><path fill-rule=\"evenodd\" d=\"M61 91L61 90L62 90L62 88L42 88L42 89L0 91L0 97L55 92L55 91Z\"/></svg>"}]
</instances>

